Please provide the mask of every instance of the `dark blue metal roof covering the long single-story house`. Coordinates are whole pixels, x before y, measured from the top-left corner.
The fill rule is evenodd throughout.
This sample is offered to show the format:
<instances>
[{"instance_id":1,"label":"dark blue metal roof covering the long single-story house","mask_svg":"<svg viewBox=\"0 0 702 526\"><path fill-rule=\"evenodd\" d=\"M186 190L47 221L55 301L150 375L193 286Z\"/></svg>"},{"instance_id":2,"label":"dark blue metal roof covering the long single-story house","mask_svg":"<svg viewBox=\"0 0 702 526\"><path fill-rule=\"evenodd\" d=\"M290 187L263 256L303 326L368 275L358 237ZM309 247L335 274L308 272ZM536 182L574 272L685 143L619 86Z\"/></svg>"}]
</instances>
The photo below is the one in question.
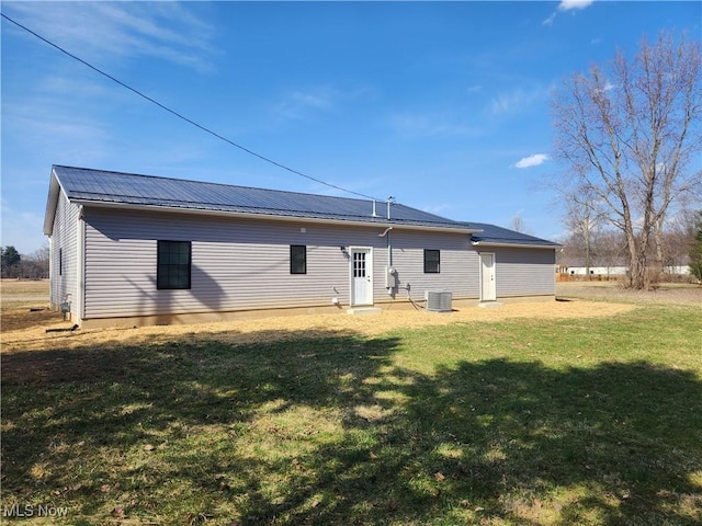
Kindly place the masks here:
<instances>
[{"instance_id":1,"label":"dark blue metal roof covering the long single-story house","mask_svg":"<svg viewBox=\"0 0 702 526\"><path fill-rule=\"evenodd\" d=\"M58 184L56 184L58 183ZM547 245L550 241L492 225L461 222L395 203L387 218L385 202L280 190L138 175L54 165L44 231L52 231L58 188L69 201L102 206L156 207L183 211L246 214L268 218L376 224L382 226L445 229L473 235L475 242ZM376 215L373 215L375 208ZM476 233L483 230L482 233ZM476 237L477 236L477 237Z\"/></svg>"}]
</instances>

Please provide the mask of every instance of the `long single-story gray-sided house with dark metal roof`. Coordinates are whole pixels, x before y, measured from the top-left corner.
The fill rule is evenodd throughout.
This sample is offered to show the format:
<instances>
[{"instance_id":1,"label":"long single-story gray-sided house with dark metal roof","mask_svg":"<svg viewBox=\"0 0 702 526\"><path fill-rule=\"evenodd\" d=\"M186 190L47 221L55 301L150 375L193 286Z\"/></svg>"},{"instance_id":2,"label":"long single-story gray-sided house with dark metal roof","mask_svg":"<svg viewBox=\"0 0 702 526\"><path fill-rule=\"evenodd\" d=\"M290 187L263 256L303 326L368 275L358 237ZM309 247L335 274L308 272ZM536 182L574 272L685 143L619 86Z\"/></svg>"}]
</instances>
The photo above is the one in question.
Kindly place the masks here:
<instances>
[{"instance_id":1,"label":"long single-story gray-sided house with dark metal roof","mask_svg":"<svg viewBox=\"0 0 702 526\"><path fill-rule=\"evenodd\" d=\"M44 233L50 304L83 327L553 299L559 247L400 204L61 165Z\"/></svg>"}]
</instances>

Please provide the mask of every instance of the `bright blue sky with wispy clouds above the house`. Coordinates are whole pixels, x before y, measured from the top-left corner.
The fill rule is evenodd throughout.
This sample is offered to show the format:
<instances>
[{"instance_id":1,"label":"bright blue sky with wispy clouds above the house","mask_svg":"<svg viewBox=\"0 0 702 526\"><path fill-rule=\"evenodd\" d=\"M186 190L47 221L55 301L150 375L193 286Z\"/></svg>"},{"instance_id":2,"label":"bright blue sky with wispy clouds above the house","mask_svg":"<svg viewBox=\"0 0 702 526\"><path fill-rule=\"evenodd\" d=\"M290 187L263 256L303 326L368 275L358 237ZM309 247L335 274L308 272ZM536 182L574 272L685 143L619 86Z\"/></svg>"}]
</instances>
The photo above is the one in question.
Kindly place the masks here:
<instances>
[{"instance_id":1,"label":"bright blue sky with wispy clouds above the house","mask_svg":"<svg viewBox=\"0 0 702 526\"><path fill-rule=\"evenodd\" d=\"M700 2L2 2L234 142L451 219L566 233L551 93ZM344 195L220 141L2 20L2 245L42 247L52 164Z\"/></svg>"}]
</instances>

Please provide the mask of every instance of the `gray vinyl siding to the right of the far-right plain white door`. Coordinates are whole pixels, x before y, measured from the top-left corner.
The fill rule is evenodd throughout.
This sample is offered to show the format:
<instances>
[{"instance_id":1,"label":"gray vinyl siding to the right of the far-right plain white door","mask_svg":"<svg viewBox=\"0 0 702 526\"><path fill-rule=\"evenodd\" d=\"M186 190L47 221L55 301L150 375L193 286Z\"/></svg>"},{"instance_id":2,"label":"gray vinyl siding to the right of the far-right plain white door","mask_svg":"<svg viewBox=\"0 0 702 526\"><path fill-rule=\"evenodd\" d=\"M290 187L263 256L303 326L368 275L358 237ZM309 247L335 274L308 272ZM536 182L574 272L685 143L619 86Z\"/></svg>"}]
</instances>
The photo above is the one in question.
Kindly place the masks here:
<instances>
[{"instance_id":1,"label":"gray vinyl siding to the right of the far-right plain white door","mask_svg":"<svg viewBox=\"0 0 702 526\"><path fill-rule=\"evenodd\" d=\"M495 253L498 298L556 294L556 253L551 249L485 249Z\"/></svg>"}]
</instances>

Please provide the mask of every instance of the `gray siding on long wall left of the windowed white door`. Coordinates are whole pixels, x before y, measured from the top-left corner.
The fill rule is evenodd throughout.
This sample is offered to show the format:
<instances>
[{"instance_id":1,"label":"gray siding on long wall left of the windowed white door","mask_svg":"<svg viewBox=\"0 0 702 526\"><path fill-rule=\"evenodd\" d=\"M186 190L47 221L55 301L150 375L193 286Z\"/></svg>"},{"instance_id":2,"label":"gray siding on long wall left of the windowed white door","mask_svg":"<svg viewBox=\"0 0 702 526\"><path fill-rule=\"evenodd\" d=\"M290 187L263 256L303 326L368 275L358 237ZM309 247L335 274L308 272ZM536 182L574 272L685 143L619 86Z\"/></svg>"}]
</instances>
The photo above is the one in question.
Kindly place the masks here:
<instances>
[{"instance_id":1,"label":"gray siding on long wall left of the windowed white door","mask_svg":"<svg viewBox=\"0 0 702 526\"><path fill-rule=\"evenodd\" d=\"M313 229L172 214L91 210L86 248L86 317L331 305L348 295L339 245ZM157 240L191 241L191 289L156 288ZM307 245L307 274L290 274L290 244ZM335 264L336 263L336 264ZM341 263L341 264L339 264Z\"/></svg>"}]
</instances>

